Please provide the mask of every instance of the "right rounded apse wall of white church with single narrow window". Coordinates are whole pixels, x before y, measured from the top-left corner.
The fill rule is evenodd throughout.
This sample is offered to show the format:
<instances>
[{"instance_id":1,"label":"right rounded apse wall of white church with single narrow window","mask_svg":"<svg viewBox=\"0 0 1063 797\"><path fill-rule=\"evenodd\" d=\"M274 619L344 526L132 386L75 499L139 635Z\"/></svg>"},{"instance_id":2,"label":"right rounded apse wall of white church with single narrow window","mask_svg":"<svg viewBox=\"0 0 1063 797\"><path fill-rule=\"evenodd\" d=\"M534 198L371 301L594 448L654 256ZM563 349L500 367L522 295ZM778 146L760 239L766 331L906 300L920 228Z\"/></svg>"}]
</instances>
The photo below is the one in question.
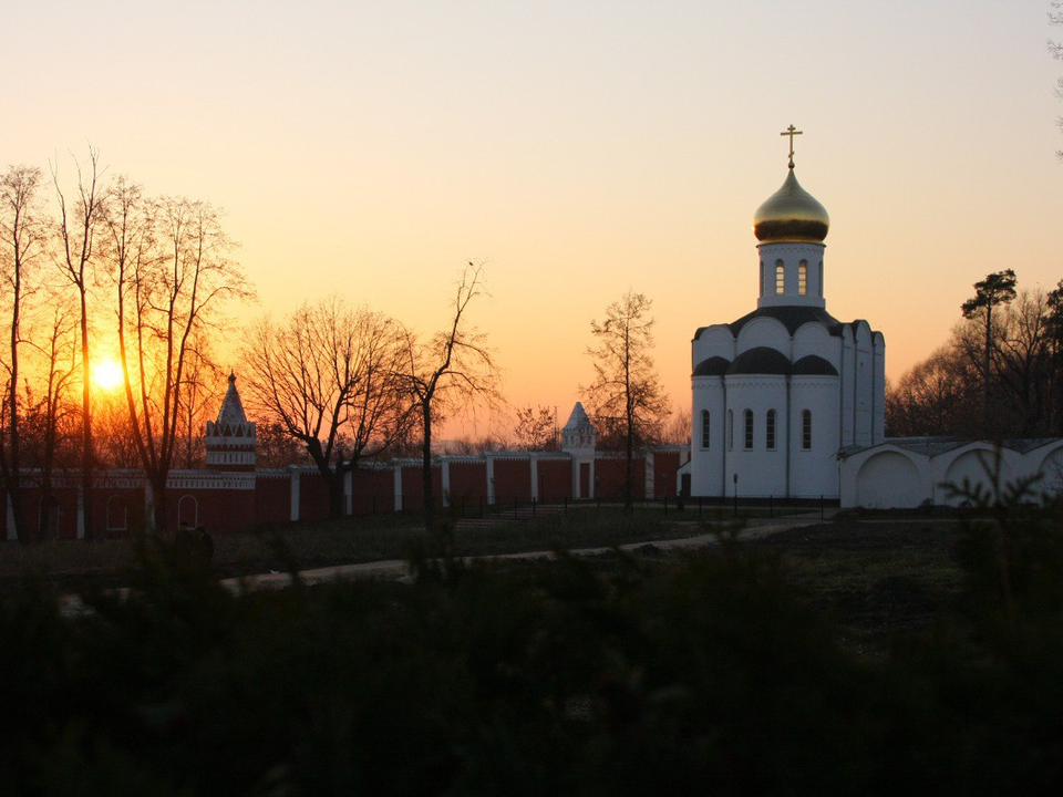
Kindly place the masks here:
<instances>
[{"instance_id":1,"label":"right rounded apse wall of white church with single narrow window","mask_svg":"<svg viewBox=\"0 0 1063 797\"><path fill-rule=\"evenodd\" d=\"M794 376L791 380L789 493L838 497L838 377ZM804 417L812 413L812 445L804 447Z\"/></svg>"}]
</instances>

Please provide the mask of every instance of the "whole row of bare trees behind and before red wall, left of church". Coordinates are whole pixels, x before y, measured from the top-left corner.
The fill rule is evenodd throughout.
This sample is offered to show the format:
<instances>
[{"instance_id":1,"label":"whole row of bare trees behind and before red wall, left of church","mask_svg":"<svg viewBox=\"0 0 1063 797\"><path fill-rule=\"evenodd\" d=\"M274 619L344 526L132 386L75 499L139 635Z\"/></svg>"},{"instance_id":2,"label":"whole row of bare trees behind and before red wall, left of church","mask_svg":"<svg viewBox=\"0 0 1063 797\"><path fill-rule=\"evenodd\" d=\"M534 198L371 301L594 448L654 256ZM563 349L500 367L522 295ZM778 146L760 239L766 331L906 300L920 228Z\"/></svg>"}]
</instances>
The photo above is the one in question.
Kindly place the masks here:
<instances>
[{"instance_id":1,"label":"whole row of bare trees behind and before red wall, left of church","mask_svg":"<svg viewBox=\"0 0 1063 797\"><path fill-rule=\"evenodd\" d=\"M255 297L236 249L209 203L149 196L109 176L94 149L72 158L69 178L58 164L0 175L0 479L20 541L48 530L45 514L23 505L27 490L48 498L60 476L80 478L85 534L96 534L93 495L107 468L143 470L148 522L165 529L169 472L205 464L202 431L225 383L226 310ZM556 448L556 411L507 404L496 353L471 323L484 277L483 263L464 267L448 323L430 335L338 297L244 330L223 354L240 364L260 465L312 463L340 515L345 476L360 463L420 455L431 525L433 435L451 414L515 410L512 432L484 445ZM581 389L601 446L629 463L641 445L689 435L689 415L685 431L682 415L664 423L650 308L629 291L591 322L596 379ZM120 371L110 392L94 389L109 349Z\"/></svg>"}]
</instances>

